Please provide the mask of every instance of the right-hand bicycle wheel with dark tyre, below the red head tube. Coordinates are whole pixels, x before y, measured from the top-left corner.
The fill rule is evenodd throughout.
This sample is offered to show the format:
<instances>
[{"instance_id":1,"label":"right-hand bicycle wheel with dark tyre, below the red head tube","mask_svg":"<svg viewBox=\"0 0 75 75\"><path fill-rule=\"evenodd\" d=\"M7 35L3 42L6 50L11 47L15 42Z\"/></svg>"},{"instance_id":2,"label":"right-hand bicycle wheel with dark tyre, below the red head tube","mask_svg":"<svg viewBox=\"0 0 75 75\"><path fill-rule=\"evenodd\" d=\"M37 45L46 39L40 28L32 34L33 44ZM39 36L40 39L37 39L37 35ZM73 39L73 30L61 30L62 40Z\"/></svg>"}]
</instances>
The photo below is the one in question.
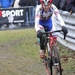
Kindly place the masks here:
<instances>
[{"instance_id":1,"label":"right-hand bicycle wheel with dark tyre, below the red head tube","mask_svg":"<svg viewBox=\"0 0 75 75\"><path fill-rule=\"evenodd\" d=\"M58 48L56 45L54 45L52 48L52 62L54 66L55 75L62 75L61 62L60 62Z\"/></svg>"}]
</instances>

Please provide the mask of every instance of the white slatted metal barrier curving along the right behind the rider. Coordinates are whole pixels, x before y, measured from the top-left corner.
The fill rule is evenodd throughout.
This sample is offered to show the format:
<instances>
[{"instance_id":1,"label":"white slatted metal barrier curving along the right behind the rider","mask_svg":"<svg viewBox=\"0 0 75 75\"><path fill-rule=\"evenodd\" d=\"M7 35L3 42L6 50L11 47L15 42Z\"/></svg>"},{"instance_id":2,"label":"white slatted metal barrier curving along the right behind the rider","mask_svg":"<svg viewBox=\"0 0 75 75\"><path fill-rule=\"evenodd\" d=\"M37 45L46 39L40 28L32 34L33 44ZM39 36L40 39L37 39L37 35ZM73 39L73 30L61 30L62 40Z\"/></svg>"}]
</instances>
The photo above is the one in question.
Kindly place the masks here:
<instances>
[{"instance_id":1,"label":"white slatted metal barrier curving along the right behind the rider","mask_svg":"<svg viewBox=\"0 0 75 75\"><path fill-rule=\"evenodd\" d=\"M75 50L75 14L70 15L67 11L59 10L65 24L68 29L68 34L66 40L63 39L62 33L59 33L58 41L64 46ZM61 28L60 24L57 22L57 29Z\"/></svg>"}]
</instances>

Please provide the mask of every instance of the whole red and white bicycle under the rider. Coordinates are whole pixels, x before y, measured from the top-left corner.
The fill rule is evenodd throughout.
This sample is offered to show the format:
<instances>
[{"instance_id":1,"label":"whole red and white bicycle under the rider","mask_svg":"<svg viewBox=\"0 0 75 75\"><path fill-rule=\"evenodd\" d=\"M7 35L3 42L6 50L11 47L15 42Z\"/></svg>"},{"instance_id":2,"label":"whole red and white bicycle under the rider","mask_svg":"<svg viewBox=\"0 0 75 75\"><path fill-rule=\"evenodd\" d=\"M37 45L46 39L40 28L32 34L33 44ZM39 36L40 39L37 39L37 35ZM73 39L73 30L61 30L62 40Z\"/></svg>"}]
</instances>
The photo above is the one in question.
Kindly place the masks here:
<instances>
[{"instance_id":1,"label":"whole red and white bicycle under the rider","mask_svg":"<svg viewBox=\"0 0 75 75\"><path fill-rule=\"evenodd\" d=\"M46 34L46 58L44 59L44 64L47 75L62 75L60 56L56 42L57 37L53 35L56 32L62 32L62 30L43 33ZM64 35L64 39L65 37L66 35Z\"/></svg>"}]
</instances>

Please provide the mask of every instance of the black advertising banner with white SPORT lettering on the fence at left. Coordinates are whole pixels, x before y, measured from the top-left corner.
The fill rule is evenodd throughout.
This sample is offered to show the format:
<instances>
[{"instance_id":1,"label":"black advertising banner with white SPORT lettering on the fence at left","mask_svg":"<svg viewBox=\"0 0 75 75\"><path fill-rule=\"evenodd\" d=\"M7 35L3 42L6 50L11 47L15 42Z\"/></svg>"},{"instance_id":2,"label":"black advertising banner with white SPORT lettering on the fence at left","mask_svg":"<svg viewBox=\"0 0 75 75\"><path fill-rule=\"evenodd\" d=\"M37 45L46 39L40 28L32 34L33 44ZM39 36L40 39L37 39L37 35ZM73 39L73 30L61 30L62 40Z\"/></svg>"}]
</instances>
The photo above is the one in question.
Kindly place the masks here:
<instances>
[{"instance_id":1,"label":"black advertising banner with white SPORT lettering on the fence at left","mask_svg":"<svg viewBox=\"0 0 75 75\"><path fill-rule=\"evenodd\" d=\"M24 8L0 9L0 24L25 22Z\"/></svg>"}]
</instances>

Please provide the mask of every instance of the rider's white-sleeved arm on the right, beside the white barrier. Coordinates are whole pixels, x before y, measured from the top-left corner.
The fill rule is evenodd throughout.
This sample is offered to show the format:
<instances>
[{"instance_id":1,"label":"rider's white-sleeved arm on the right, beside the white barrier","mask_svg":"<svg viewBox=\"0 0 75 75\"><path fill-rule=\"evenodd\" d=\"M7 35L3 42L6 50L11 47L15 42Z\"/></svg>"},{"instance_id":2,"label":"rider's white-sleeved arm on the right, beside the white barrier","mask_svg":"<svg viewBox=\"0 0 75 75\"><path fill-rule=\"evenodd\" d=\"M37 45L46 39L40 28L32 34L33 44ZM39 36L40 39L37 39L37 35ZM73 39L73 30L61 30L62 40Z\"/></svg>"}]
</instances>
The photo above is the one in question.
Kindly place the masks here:
<instances>
[{"instance_id":1,"label":"rider's white-sleeved arm on the right, beside the white barrier","mask_svg":"<svg viewBox=\"0 0 75 75\"><path fill-rule=\"evenodd\" d=\"M60 13L59 13L59 10L57 9L57 7L52 4L52 8L53 8L56 20L60 23L61 26L65 26L65 23L64 23L62 17L60 16Z\"/></svg>"}]
</instances>

